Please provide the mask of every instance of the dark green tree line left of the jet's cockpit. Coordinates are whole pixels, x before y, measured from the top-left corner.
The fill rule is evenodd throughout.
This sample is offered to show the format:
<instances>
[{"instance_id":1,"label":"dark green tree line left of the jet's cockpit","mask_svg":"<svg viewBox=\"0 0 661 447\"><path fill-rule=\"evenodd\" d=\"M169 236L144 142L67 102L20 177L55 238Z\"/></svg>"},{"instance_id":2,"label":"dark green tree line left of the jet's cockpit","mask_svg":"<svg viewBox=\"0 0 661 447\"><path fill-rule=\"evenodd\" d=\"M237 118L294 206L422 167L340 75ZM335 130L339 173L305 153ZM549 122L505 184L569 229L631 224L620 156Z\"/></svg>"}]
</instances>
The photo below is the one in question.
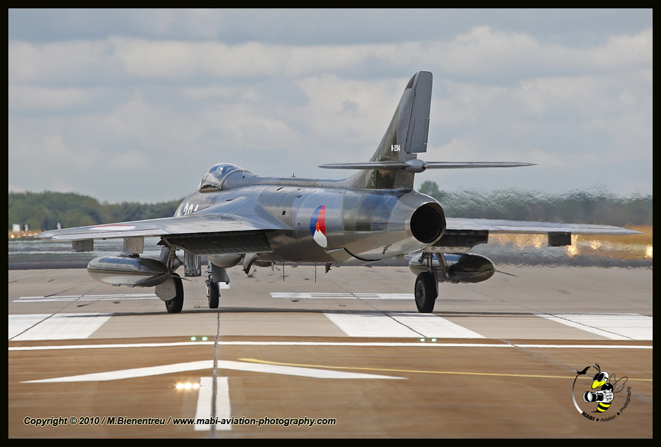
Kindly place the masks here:
<instances>
[{"instance_id":1,"label":"dark green tree line left of the jet's cockpit","mask_svg":"<svg viewBox=\"0 0 661 447\"><path fill-rule=\"evenodd\" d=\"M10 192L8 229L13 224L21 228L55 229L83 227L127 220L165 218L174 215L183 199L141 204L122 202L100 203L97 199L74 192Z\"/></svg>"}]
</instances>

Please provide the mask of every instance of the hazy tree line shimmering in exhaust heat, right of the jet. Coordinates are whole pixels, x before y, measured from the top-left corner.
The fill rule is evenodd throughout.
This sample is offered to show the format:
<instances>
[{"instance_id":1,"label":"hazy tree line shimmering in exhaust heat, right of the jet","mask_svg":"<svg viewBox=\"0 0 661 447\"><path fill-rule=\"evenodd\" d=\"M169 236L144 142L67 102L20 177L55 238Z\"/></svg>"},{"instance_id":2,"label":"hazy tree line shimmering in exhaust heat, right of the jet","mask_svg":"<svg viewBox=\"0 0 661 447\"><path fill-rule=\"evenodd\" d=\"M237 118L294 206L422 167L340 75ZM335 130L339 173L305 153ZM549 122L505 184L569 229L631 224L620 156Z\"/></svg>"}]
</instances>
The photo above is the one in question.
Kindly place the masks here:
<instances>
[{"instance_id":1,"label":"hazy tree line shimmering in exhaust heat, right of the jet","mask_svg":"<svg viewBox=\"0 0 661 447\"><path fill-rule=\"evenodd\" d=\"M600 225L652 225L652 195L619 197L603 188L571 190L562 194L515 188L441 191L425 181L419 192L443 206L446 217L536 220Z\"/></svg>"}]
</instances>

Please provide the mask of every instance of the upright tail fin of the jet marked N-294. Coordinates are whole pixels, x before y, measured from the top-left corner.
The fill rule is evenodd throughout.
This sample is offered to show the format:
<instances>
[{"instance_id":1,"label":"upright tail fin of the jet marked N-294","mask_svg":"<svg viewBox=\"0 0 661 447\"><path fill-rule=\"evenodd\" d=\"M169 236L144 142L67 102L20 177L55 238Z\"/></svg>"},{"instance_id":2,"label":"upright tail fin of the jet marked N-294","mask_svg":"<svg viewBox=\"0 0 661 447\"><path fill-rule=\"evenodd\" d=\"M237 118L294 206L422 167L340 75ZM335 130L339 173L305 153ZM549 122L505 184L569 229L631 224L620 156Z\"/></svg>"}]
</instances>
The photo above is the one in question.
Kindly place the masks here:
<instances>
[{"instance_id":1,"label":"upright tail fin of the jet marked N-294","mask_svg":"<svg viewBox=\"0 0 661 447\"><path fill-rule=\"evenodd\" d=\"M406 84L399 105L372 162L405 162L427 151L432 74L419 71ZM368 169L352 177L352 188L413 188L414 173L403 169Z\"/></svg>"}]
</instances>

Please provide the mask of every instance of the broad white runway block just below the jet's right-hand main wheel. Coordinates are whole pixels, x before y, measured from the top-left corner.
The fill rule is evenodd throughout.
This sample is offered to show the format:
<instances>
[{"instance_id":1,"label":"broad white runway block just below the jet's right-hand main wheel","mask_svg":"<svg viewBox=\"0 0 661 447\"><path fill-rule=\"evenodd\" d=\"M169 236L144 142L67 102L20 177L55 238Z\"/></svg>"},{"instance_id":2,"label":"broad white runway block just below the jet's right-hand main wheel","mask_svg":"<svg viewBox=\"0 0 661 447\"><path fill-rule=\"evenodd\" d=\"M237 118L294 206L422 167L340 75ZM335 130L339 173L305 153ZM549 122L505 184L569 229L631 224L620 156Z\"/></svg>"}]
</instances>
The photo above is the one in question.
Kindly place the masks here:
<instances>
[{"instance_id":1,"label":"broad white runway block just below the jet's right-hand main wheel","mask_svg":"<svg viewBox=\"0 0 661 447\"><path fill-rule=\"evenodd\" d=\"M484 338L479 333L431 314L325 312L324 315L350 337Z\"/></svg>"}]
</instances>

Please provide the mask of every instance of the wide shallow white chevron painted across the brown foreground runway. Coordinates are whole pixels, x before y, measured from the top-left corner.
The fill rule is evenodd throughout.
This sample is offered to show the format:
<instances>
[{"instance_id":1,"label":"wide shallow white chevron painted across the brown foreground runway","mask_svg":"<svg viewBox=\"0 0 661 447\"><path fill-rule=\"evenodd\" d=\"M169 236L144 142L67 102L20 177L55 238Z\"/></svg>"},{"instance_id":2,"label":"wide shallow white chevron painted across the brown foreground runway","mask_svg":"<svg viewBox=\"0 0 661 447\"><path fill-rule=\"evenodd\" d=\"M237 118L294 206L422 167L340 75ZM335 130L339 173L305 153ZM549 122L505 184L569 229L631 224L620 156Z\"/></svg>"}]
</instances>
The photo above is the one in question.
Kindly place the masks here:
<instances>
[{"instance_id":1,"label":"wide shallow white chevron painted across the brown foreground runway","mask_svg":"<svg viewBox=\"0 0 661 447\"><path fill-rule=\"evenodd\" d=\"M54 377L52 379L31 380L24 383L36 384L56 382L108 381L132 379L134 377L157 376L161 374L171 374L172 372L206 370L212 368L212 360L202 360L187 363L174 363L172 365L150 366L147 368L132 368L130 370L116 370L107 372L95 372L92 374L79 374L68 377ZM283 374L288 376L315 377L317 379L404 379L404 377L364 374L362 372L318 370L316 368L301 368L298 366L265 365L262 363L235 361L218 361L218 369L249 372L269 372L272 374Z\"/></svg>"}]
</instances>

